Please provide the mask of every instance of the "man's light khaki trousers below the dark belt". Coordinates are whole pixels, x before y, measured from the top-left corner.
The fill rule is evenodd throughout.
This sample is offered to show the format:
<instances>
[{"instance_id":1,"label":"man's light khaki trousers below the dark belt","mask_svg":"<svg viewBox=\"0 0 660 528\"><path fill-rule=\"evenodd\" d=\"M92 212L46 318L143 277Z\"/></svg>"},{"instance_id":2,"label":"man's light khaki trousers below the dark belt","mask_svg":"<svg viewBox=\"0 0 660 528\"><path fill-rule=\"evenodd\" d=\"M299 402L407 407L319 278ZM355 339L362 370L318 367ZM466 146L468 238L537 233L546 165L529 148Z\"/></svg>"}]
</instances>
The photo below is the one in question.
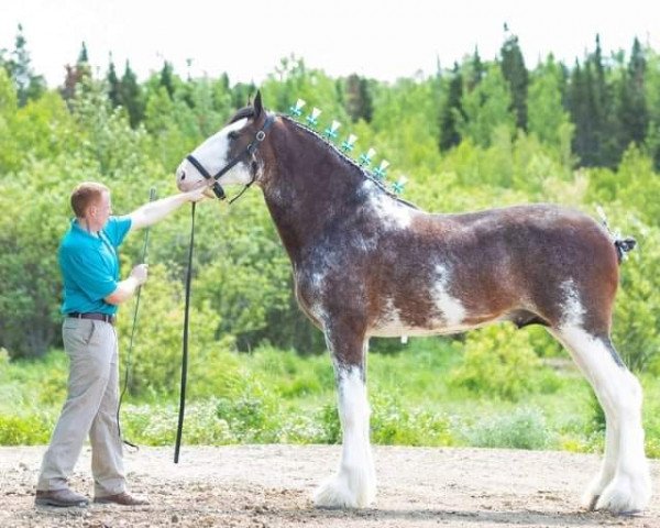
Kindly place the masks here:
<instances>
[{"instance_id":1,"label":"man's light khaki trousers below the dark belt","mask_svg":"<svg viewBox=\"0 0 660 528\"><path fill-rule=\"evenodd\" d=\"M62 336L69 356L67 397L44 454L36 488L67 487L89 433L95 495L121 493L125 491L125 479L117 425L117 332L109 322L66 318Z\"/></svg>"}]
</instances>

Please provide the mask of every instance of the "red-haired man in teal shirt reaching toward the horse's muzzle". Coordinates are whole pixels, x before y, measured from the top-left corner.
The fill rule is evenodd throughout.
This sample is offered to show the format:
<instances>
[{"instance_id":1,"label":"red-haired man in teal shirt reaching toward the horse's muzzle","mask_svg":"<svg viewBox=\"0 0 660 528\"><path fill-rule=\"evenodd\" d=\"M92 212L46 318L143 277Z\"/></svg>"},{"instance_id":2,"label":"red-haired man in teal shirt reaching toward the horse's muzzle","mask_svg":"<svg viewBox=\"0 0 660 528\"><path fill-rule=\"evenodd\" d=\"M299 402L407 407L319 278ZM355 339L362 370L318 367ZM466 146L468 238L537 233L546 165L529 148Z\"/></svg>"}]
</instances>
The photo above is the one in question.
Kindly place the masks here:
<instances>
[{"instance_id":1,"label":"red-haired man in teal shirt reaching toward the horse's muzzle","mask_svg":"<svg viewBox=\"0 0 660 528\"><path fill-rule=\"evenodd\" d=\"M76 218L59 245L65 315L62 327L69 356L67 398L44 454L35 504L86 506L89 501L68 488L87 435L91 443L95 502L147 504L127 492L119 437L118 305L146 282L147 266L139 264L120 280L117 250L125 235L152 226L184 204L199 201L202 186L146 204L130 215L113 217L110 190L97 183L78 185L70 197Z\"/></svg>"}]
</instances>

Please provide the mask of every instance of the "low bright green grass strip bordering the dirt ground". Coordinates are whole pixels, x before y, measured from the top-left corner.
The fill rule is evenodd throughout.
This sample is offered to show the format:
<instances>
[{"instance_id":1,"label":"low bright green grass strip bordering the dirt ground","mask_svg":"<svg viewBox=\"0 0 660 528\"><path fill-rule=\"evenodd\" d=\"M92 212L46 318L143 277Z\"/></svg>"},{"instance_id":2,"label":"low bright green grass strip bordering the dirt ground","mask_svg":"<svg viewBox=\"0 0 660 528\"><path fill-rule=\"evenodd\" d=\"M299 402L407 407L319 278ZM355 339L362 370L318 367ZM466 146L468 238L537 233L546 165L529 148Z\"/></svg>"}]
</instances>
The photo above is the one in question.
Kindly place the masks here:
<instances>
[{"instance_id":1,"label":"low bright green grass strip bordering the dirt ground","mask_svg":"<svg viewBox=\"0 0 660 528\"><path fill-rule=\"evenodd\" d=\"M520 449L602 449L590 387L572 367L539 363L539 382L522 398L457 386L464 343L414 339L398 353L372 353L369 393L372 441L406 446L475 446ZM326 354L300 358L263 346L231 354L211 397L187 403L187 444L336 443L341 430L334 376ZM222 354L221 353L221 354ZM135 361L139 361L136 359ZM231 369L237 369L235 372ZM42 361L9 362L0 353L0 444L46 443L65 397L67 360L52 351ZM642 378L647 451L660 457L660 383ZM194 387L196 380L189 380ZM195 391L191 391L195 394ZM177 388L172 394L129 396L122 430L147 446L174 442Z\"/></svg>"}]
</instances>

